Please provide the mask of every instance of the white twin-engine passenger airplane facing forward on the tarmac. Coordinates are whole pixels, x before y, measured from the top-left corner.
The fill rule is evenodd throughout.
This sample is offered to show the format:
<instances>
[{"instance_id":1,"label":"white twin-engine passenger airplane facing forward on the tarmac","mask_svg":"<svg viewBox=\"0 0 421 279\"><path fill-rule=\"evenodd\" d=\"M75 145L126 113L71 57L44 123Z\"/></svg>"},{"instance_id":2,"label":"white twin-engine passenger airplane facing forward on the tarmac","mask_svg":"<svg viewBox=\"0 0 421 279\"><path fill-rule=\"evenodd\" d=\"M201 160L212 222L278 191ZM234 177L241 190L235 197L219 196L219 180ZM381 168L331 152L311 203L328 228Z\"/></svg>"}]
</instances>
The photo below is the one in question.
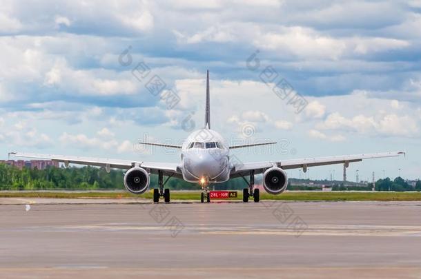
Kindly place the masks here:
<instances>
[{"instance_id":1,"label":"white twin-engine passenger airplane facing forward on the tarmac","mask_svg":"<svg viewBox=\"0 0 421 279\"><path fill-rule=\"evenodd\" d=\"M224 138L215 130L210 129L210 92L209 92L209 71L206 72L206 108L204 128L192 132L182 145L168 145L161 143L146 143L144 145L155 145L160 147L181 149L181 161L179 163L157 163L146 161L128 161L109 158L91 158L79 156L61 156L52 154L30 154L21 152L10 152L17 157L42 158L64 163L66 167L70 163L78 165L93 165L105 167L106 172L111 168L126 169L124 174L124 186L133 194L143 194L149 188L150 174L158 175L158 187L153 189L153 202L159 203L163 197L165 203L170 203L170 189L164 186L171 177L182 178L191 183L202 185L200 200L204 203L210 202L209 184L223 183L231 178L242 177L248 187L243 189L243 202L253 197L257 203L260 201L260 190L255 189L255 175L262 174L263 187L269 194L281 194L288 185L286 169L300 169L304 172L309 167L320 165L344 164L359 162L369 158L385 158L400 156L404 152L383 152L373 154L358 154L344 156L327 156L317 158L300 158L279 161L264 161L240 163L235 162L230 156L230 150L257 145L271 145L270 143L253 143L246 145L228 146ZM164 181L164 176L166 180ZM246 179L248 176L248 180Z\"/></svg>"}]
</instances>

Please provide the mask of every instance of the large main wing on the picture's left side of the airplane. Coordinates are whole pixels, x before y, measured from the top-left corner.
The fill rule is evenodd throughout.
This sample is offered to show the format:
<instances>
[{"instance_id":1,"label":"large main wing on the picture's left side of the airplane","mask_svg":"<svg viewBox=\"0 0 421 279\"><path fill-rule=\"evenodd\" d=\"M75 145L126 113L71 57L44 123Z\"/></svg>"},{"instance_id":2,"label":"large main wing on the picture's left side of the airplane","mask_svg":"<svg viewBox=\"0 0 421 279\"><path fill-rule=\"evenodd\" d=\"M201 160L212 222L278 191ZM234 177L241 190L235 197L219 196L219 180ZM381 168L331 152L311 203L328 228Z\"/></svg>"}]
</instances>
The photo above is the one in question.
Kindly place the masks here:
<instances>
[{"instance_id":1,"label":"large main wing on the picture's left side of the airplane","mask_svg":"<svg viewBox=\"0 0 421 279\"><path fill-rule=\"evenodd\" d=\"M65 156L65 155L52 155L52 154L32 154L32 153L21 153L21 152L10 152L9 155L24 158L39 158L57 161L64 163L66 166L70 164L77 165L92 165L97 167L116 168L116 169L130 169L136 164L144 169L150 169L150 172L157 173L158 170L165 172L166 174L175 174L176 176L181 175L180 166L177 163L155 163L155 162L144 162L144 161L130 161L130 160L119 160L110 158L92 158L92 157L79 157L79 156Z\"/></svg>"}]
</instances>

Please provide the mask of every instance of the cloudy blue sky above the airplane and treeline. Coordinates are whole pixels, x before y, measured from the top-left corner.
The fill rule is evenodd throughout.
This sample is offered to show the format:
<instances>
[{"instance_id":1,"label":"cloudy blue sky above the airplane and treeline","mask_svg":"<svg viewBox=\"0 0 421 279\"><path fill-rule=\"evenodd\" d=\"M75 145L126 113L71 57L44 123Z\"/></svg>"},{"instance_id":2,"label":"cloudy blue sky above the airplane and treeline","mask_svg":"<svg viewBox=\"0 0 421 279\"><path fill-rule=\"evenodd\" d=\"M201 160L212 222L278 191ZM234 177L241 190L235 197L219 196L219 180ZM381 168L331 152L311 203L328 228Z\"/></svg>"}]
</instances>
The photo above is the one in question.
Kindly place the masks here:
<instances>
[{"instance_id":1,"label":"cloudy blue sky above the airplane and treeline","mask_svg":"<svg viewBox=\"0 0 421 279\"><path fill-rule=\"evenodd\" d=\"M213 130L278 143L237 160L405 151L351 163L348 178L416 179L420 60L420 0L3 0L0 158L177 162L137 142L202 128L209 70ZM288 175L340 180L342 165Z\"/></svg>"}]
</instances>

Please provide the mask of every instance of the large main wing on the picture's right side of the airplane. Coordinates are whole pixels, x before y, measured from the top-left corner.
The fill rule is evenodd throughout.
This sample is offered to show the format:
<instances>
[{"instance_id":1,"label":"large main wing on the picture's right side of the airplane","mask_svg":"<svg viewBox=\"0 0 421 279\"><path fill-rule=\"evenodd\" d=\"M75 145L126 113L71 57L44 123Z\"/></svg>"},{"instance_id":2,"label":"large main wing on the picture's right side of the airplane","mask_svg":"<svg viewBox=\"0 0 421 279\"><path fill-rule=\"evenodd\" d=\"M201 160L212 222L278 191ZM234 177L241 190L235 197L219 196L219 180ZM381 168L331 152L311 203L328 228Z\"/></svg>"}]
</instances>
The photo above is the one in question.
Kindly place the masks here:
<instances>
[{"instance_id":1,"label":"large main wing on the picture's right side of the airplane","mask_svg":"<svg viewBox=\"0 0 421 279\"><path fill-rule=\"evenodd\" d=\"M306 169L307 167L315 167L319 165L333 165L333 164L349 164L353 162L360 162L365 159L371 158L386 158L400 156L405 152L384 152L384 153L371 153L371 154L358 154L358 155L344 155L344 156L328 156L316 158L301 158L301 159L288 159L275 162L255 162L255 163L242 163L236 162L231 171L231 177L248 175L251 170L255 174L261 174L266 169L272 166L281 167L282 169Z\"/></svg>"}]
</instances>

